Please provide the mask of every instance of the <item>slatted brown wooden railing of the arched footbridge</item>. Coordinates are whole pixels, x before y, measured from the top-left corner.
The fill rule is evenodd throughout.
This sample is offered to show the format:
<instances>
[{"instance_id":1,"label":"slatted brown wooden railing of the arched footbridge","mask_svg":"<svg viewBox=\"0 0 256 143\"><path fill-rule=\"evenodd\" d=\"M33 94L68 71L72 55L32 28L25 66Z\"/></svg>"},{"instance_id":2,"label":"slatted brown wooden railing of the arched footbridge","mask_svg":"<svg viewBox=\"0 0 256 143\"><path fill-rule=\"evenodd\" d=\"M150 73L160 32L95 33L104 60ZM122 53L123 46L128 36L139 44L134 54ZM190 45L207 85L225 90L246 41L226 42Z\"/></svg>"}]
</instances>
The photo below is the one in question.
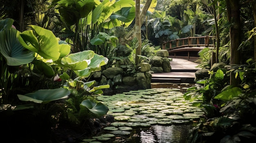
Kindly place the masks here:
<instances>
[{"instance_id":1,"label":"slatted brown wooden railing of the arched footbridge","mask_svg":"<svg viewBox=\"0 0 256 143\"><path fill-rule=\"evenodd\" d=\"M185 48L185 47L214 47L214 37L213 36L198 36L198 37L186 37L180 38L176 40L170 40L164 42L162 45L162 49L166 50L174 50L177 48Z\"/></svg>"}]
</instances>

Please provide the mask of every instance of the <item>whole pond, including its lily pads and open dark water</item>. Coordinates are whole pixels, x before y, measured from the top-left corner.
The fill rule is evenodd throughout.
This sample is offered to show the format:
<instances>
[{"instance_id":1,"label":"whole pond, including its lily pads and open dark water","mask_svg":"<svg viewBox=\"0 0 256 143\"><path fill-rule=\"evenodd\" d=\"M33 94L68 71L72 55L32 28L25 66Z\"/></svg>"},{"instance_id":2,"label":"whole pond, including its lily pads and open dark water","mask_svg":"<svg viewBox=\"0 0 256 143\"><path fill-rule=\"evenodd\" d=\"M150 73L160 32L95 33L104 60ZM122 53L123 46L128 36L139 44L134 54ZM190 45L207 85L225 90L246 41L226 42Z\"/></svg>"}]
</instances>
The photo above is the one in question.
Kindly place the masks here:
<instances>
[{"instance_id":1,"label":"whole pond, including its lily pads and open dark water","mask_svg":"<svg viewBox=\"0 0 256 143\"><path fill-rule=\"evenodd\" d=\"M163 86L163 85L162 85ZM170 86L170 85L168 85ZM191 101L184 100L186 88L192 85L175 84L102 95L97 99L109 108L115 122L84 143L185 143L189 130L200 121L204 112Z\"/></svg>"}]
</instances>

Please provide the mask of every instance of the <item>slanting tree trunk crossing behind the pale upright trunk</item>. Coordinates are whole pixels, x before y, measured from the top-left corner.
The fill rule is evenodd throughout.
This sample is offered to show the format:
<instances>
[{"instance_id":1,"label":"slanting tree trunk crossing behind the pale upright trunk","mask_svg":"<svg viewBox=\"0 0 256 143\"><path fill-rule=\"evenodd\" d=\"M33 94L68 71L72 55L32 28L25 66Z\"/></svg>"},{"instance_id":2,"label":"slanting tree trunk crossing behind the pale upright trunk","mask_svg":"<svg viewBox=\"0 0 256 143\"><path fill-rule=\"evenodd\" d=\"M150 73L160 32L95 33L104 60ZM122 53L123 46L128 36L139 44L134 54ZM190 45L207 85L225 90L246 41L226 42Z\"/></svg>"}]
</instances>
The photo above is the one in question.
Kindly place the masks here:
<instances>
[{"instance_id":1,"label":"slanting tree trunk crossing behind the pale upright trunk","mask_svg":"<svg viewBox=\"0 0 256 143\"><path fill-rule=\"evenodd\" d=\"M148 8L151 4L152 0L147 0L146 1L146 4L144 5L141 13L140 13L140 21L143 21L146 17L146 13L148 11ZM140 26L142 25L142 22L140 24ZM135 34L135 26L132 27L132 29L128 32L128 34L126 35L126 39L132 39L131 37L134 37L134 34Z\"/></svg>"}]
</instances>

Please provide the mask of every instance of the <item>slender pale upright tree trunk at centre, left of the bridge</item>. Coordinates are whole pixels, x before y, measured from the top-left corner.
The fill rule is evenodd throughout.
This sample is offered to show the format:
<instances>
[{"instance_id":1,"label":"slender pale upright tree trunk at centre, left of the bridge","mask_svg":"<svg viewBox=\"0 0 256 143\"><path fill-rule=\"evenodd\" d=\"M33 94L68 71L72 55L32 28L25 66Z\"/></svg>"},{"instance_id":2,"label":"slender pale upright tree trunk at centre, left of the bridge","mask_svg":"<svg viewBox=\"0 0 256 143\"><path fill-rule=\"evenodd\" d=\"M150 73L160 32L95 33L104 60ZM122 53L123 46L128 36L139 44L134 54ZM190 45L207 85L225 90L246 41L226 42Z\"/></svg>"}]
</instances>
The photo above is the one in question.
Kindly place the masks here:
<instances>
[{"instance_id":1,"label":"slender pale upright tree trunk at centre, left of the bridge","mask_svg":"<svg viewBox=\"0 0 256 143\"><path fill-rule=\"evenodd\" d=\"M135 37L138 40L138 47L136 48L135 63L139 63L139 57L141 55L141 22L140 22L140 0L135 0Z\"/></svg>"}]
</instances>

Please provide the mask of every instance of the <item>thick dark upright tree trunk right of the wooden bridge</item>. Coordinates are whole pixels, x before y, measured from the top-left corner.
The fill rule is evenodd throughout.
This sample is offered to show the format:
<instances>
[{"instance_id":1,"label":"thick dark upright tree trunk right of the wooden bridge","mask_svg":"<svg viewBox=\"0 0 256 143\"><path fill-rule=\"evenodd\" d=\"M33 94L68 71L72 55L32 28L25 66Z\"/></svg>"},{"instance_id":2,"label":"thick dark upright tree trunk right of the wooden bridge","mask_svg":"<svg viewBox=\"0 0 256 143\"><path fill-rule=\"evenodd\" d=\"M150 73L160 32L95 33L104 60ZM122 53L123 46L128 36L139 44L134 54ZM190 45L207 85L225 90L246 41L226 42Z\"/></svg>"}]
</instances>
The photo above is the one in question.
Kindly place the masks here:
<instances>
[{"instance_id":1,"label":"thick dark upright tree trunk right of the wooden bridge","mask_svg":"<svg viewBox=\"0 0 256 143\"><path fill-rule=\"evenodd\" d=\"M232 23L230 27L231 57L230 64L240 64L240 52L238 47L241 41L241 22L239 0L226 0L228 21ZM231 73L230 85L236 86L238 81L235 74Z\"/></svg>"}]
</instances>

